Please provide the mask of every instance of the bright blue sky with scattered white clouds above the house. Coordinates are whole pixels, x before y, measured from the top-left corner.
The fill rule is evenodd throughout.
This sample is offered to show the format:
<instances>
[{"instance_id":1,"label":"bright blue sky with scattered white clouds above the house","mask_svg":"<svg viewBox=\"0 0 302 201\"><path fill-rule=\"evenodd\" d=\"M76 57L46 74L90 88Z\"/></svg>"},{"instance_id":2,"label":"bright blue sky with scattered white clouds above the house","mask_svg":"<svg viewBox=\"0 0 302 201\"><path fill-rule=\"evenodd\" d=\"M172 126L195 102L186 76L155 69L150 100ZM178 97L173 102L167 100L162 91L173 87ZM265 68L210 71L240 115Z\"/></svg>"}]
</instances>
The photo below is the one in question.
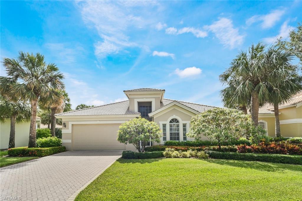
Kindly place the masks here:
<instances>
[{"instance_id":1,"label":"bright blue sky with scattered white clouds above the house","mask_svg":"<svg viewBox=\"0 0 302 201\"><path fill-rule=\"evenodd\" d=\"M43 53L73 108L143 87L222 106L218 76L238 51L287 38L301 10L301 1L1 1L1 58Z\"/></svg>"}]
</instances>

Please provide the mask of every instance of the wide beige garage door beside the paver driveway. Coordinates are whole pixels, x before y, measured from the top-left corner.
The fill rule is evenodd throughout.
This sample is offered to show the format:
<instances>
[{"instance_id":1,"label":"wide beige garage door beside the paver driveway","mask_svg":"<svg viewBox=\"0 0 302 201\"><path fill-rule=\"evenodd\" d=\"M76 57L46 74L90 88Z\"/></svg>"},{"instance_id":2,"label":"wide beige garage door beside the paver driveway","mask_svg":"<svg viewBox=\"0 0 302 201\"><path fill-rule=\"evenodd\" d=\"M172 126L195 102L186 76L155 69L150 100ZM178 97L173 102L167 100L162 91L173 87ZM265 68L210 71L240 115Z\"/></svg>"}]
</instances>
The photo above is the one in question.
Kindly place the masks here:
<instances>
[{"instance_id":1,"label":"wide beige garage door beside the paver driveway","mask_svg":"<svg viewBox=\"0 0 302 201\"><path fill-rule=\"evenodd\" d=\"M119 143L117 131L120 124L72 125L73 150L125 150Z\"/></svg>"}]
</instances>

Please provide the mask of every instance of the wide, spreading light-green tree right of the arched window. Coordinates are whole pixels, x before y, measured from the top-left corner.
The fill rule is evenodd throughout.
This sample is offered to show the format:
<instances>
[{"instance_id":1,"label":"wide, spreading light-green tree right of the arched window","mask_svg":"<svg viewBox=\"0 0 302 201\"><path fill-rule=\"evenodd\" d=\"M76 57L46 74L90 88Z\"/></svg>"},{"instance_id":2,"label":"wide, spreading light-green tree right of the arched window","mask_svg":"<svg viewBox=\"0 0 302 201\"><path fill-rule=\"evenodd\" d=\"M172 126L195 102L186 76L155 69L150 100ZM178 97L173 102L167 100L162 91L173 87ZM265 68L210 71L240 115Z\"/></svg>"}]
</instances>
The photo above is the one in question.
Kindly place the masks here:
<instances>
[{"instance_id":1,"label":"wide, spreading light-green tree right of the arched window","mask_svg":"<svg viewBox=\"0 0 302 201\"><path fill-rule=\"evenodd\" d=\"M246 135L251 128L249 115L236 109L215 108L192 117L187 136L200 139L202 135L217 140L219 148L225 142L231 142Z\"/></svg>"}]
</instances>

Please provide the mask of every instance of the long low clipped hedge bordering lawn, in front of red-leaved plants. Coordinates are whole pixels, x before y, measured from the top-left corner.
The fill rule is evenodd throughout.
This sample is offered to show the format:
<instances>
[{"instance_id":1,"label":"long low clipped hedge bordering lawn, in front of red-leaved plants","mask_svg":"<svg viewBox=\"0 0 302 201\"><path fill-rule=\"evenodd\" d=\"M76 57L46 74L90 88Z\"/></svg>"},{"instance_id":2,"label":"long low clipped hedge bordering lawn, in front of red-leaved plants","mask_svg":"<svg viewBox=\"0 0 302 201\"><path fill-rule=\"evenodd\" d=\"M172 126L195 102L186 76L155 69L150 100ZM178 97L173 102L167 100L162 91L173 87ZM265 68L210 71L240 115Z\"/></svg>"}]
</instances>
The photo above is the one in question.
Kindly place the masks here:
<instances>
[{"instance_id":1,"label":"long low clipped hedge bordering lawn, in front of red-leaved plants","mask_svg":"<svg viewBox=\"0 0 302 201\"><path fill-rule=\"evenodd\" d=\"M205 151L210 158L252 160L272 163L299 164L302 165L302 156L279 154L240 154L236 152Z\"/></svg>"}]
</instances>

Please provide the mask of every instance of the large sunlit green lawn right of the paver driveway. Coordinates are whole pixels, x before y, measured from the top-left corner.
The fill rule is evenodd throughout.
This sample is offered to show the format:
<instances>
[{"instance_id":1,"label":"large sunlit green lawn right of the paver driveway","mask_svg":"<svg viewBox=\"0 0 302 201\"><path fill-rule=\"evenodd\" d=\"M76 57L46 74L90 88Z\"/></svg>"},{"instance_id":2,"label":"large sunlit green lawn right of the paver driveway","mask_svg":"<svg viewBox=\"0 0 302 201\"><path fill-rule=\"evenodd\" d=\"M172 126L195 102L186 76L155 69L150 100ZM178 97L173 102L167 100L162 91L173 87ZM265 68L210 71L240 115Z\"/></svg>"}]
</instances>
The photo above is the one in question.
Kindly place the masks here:
<instances>
[{"instance_id":1,"label":"large sunlit green lawn right of the paver driveway","mask_svg":"<svg viewBox=\"0 0 302 201\"><path fill-rule=\"evenodd\" d=\"M255 161L119 159L79 200L301 200L302 166Z\"/></svg>"}]
</instances>

